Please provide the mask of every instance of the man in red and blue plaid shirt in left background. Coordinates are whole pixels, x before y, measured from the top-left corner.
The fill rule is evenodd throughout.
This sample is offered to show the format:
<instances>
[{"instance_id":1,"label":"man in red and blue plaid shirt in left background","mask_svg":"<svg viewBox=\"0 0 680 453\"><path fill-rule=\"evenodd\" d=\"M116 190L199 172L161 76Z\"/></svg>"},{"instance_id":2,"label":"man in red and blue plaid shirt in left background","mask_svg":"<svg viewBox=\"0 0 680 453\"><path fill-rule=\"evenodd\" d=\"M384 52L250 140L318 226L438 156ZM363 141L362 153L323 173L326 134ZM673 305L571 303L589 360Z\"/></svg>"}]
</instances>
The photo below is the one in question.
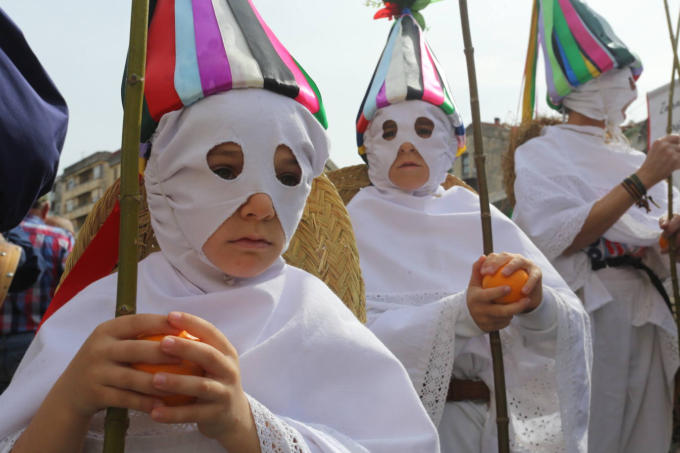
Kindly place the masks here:
<instances>
[{"instance_id":1,"label":"man in red and blue plaid shirt in left background","mask_svg":"<svg viewBox=\"0 0 680 453\"><path fill-rule=\"evenodd\" d=\"M0 393L12 380L40 323L73 249L73 235L44 223L50 202L38 200L18 226L44 259L44 270L35 284L20 293L9 293L0 308Z\"/></svg>"}]
</instances>

